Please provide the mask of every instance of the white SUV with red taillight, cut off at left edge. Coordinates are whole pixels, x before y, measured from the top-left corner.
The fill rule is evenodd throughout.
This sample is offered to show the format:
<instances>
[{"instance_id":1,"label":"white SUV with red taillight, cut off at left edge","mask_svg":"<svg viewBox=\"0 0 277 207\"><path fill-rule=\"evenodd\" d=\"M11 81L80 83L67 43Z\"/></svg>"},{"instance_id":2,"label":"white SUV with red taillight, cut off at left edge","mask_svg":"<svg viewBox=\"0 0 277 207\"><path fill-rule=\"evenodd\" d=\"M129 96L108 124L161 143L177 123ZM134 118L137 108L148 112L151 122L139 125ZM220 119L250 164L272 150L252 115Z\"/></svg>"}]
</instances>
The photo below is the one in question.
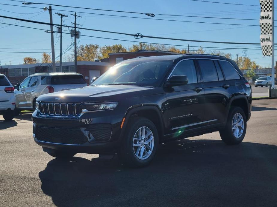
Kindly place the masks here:
<instances>
[{"instance_id":1,"label":"white SUV with red taillight, cut off at left edge","mask_svg":"<svg viewBox=\"0 0 277 207\"><path fill-rule=\"evenodd\" d=\"M14 118L15 98L14 88L5 75L0 74L0 114L4 120Z\"/></svg>"}]
</instances>

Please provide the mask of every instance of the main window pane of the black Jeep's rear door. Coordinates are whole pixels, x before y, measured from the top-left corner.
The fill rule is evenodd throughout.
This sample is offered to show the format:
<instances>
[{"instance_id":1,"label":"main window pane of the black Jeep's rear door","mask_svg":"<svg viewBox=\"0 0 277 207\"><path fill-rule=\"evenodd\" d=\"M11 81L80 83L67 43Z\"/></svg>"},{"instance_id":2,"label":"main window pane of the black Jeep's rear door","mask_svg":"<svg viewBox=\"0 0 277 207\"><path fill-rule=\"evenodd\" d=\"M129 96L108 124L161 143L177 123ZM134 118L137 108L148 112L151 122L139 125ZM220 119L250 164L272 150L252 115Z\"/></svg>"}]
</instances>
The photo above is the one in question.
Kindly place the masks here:
<instances>
[{"instance_id":1,"label":"main window pane of the black Jeep's rear door","mask_svg":"<svg viewBox=\"0 0 277 207\"><path fill-rule=\"evenodd\" d=\"M204 82L218 81L217 69L213 60L198 60Z\"/></svg>"}]
</instances>

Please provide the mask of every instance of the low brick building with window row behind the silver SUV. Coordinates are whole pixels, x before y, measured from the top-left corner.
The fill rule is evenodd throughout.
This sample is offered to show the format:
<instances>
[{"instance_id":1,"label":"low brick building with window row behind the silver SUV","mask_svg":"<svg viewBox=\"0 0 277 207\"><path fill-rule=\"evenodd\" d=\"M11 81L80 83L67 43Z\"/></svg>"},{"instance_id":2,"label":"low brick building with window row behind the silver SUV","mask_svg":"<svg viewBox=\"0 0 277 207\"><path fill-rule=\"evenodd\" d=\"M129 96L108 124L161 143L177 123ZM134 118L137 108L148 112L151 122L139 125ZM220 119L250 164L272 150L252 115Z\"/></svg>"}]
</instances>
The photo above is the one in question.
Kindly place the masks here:
<instances>
[{"instance_id":1,"label":"low brick building with window row behind the silver SUV","mask_svg":"<svg viewBox=\"0 0 277 207\"><path fill-rule=\"evenodd\" d=\"M75 71L74 62L63 62L61 70L59 63L56 63L56 72L81 73L87 84L90 84L91 79L102 75L109 65L110 63L107 62L77 61L77 70ZM4 65L0 68L0 73L6 75L13 85L18 84L28 75L38 72L53 72L52 63Z\"/></svg>"}]
</instances>

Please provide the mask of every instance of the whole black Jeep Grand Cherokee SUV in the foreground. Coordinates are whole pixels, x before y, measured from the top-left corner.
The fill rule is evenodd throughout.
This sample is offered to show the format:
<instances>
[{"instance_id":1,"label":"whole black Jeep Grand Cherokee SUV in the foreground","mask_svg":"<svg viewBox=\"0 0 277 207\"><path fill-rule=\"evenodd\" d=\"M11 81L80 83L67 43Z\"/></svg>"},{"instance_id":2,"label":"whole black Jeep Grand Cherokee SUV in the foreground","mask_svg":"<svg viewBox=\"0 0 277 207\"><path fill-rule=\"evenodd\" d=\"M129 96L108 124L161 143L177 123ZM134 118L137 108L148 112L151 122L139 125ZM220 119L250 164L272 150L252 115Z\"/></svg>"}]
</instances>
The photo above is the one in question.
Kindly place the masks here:
<instances>
[{"instance_id":1,"label":"whole black Jeep Grand Cherokee SUV in the foreground","mask_svg":"<svg viewBox=\"0 0 277 207\"><path fill-rule=\"evenodd\" d=\"M138 167L168 140L219 131L225 143L240 143L251 103L251 87L231 59L141 57L114 65L90 86L41 95L33 135L53 157L117 153Z\"/></svg>"}]
</instances>

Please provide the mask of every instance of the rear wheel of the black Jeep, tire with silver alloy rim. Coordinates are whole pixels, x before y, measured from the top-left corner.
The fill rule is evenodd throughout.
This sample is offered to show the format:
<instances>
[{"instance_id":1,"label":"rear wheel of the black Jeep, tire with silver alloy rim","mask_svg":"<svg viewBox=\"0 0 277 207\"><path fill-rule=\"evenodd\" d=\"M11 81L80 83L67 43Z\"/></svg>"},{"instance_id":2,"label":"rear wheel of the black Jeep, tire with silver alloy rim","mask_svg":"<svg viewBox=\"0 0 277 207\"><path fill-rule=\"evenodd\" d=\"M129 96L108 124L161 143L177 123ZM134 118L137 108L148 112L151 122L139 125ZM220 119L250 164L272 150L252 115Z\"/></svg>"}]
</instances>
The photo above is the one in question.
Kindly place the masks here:
<instances>
[{"instance_id":1,"label":"rear wheel of the black Jeep, tire with silver alloy rim","mask_svg":"<svg viewBox=\"0 0 277 207\"><path fill-rule=\"evenodd\" d=\"M238 125L236 124L234 126L233 123L236 123L236 118L242 117L243 121L239 122ZM240 119L241 120L241 119ZM234 128L236 129L233 129ZM241 132L241 128L243 128L243 132ZM223 142L226 144L239 144L242 142L245 133L246 133L246 128L247 128L247 122L246 122L246 116L242 108L238 106L231 107L228 115L228 120L225 126L225 129L220 131L220 137ZM238 132L238 133L235 133ZM236 135L238 135L236 137Z\"/></svg>"}]
</instances>

